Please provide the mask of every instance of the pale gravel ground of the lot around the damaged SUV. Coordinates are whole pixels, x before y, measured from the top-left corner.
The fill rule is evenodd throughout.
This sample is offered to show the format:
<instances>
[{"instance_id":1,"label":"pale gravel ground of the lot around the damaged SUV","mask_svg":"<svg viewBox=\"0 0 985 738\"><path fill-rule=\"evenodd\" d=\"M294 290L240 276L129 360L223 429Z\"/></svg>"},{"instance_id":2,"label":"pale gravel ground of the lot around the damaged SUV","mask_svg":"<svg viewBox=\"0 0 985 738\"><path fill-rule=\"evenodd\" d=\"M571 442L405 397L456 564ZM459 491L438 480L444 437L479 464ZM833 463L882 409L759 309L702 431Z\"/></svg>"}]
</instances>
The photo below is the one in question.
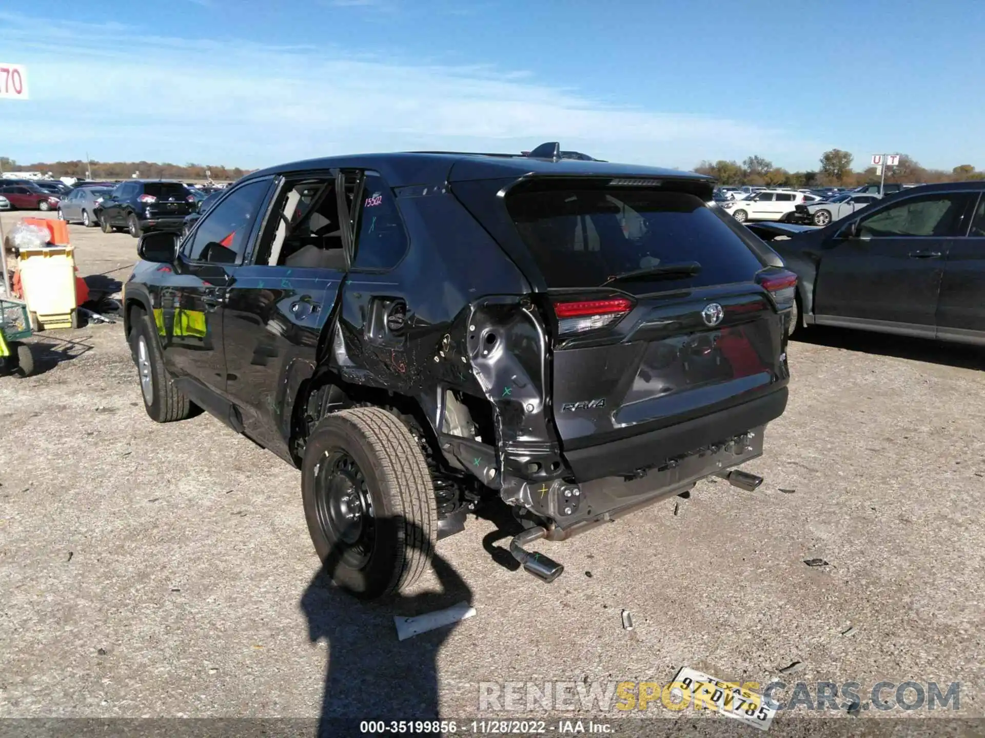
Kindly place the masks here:
<instances>
[{"instance_id":1,"label":"pale gravel ground of the lot around the damaged SUV","mask_svg":"<svg viewBox=\"0 0 985 738\"><path fill-rule=\"evenodd\" d=\"M84 275L125 279L133 239L71 231ZM0 378L0 716L453 718L480 714L480 682L664 684L692 666L859 682L864 701L884 680L961 682L958 714L985 717L985 358L804 338L748 464L756 492L702 482L541 543L566 567L550 585L497 563L505 541L470 520L438 546L451 591L431 576L364 605L317 577L295 469L208 415L152 422L121 324L45 332L44 371ZM397 641L394 614L463 599L476 617Z\"/></svg>"}]
</instances>

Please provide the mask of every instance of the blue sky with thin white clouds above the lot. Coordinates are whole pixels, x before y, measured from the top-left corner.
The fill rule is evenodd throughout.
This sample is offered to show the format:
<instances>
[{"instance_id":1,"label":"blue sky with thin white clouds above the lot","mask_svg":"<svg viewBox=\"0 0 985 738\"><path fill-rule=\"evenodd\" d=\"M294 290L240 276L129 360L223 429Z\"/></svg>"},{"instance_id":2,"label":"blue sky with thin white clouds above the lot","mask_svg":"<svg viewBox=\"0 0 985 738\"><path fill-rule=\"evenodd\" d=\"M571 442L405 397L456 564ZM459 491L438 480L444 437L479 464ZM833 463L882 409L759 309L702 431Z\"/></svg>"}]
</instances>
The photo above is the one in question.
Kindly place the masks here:
<instances>
[{"instance_id":1,"label":"blue sky with thin white clouds above the lot","mask_svg":"<svg viewBox=\"0 0 985 738\"><path fill-rule=\"evenodd\" d=\"M833 147L985 168L983 0L28 5L0 0L0 61L32 95L0 99L0 155L25 163L559 140L679 168Z\"/></svg>"}]
</instances>

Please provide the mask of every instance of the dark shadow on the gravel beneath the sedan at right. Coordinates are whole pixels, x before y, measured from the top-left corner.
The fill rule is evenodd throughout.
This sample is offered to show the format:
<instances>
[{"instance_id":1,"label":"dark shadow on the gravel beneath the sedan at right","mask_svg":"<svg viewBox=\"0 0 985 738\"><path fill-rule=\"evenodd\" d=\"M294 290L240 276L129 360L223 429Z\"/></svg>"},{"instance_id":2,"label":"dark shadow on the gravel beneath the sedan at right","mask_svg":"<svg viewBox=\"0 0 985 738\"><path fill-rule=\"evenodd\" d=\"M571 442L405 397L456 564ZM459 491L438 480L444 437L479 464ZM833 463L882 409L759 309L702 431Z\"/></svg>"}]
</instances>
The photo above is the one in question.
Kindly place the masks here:
<instances>
[{"instance_id":1,"label":"dark shadow on the gravel beneath the sedan at right","mask_svg":"<svg viewBox=\"0 0 985 738\"><path fill-rule=\"evenodd\" d=\"M962 369L985 369L985 348L963 343L946 343L928 338L890 336L869 331L812 326L799 329L791 340L815 345L861 351L880 356L896 356L913 361L927 361Z\"/></svg>"}]
</instances>

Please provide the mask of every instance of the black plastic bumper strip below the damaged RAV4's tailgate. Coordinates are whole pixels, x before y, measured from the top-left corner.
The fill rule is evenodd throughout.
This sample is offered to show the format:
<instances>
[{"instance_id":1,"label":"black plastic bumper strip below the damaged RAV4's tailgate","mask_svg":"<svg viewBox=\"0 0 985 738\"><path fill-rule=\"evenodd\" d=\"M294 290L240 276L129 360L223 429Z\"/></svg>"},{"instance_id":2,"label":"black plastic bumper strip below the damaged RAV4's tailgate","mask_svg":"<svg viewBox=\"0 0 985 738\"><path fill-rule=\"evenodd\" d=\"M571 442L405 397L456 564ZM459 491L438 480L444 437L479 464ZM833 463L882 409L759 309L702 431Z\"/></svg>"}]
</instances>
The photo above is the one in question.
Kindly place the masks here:
<instances>
[{"instance_id":1,"label":"black plastic bumper strip below the damaged RAV4's tailgate","mask_svg":"<svg viewBox=\"0 0 985 738\"><path fill-rule=\"evenodd\" d=\"M784 386L755 400L677 425L587 449L567 451L564 459L579 484L631 474L635 469L660 465L775 420L787 406L787 395Z\"/></svg>"}]
</instances>

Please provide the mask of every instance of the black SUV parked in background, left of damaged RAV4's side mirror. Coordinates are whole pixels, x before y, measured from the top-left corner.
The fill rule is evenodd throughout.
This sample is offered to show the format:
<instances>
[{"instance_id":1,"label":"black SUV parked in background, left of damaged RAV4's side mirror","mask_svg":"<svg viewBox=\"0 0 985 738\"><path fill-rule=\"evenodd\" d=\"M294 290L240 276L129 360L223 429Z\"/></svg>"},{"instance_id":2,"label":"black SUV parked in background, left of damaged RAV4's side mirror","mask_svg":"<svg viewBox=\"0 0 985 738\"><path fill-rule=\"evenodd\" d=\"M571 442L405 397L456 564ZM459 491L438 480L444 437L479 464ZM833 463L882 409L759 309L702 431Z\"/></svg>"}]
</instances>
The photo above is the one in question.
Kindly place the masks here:
<instances>
[{"instance_id":1,"label":"black SUV parked in background, left of damaged RAV4's side mirror","mask_svg":"<svg viewBox=\"0 0 985 738\"><path fill-rule=\"evenodd\" d=\"M126 228L139 238L151 230L180 232L184 216L194 212L195 196L180 182L131 179L116 185L95 215L103 232Z\"/></svg>"}]
</instances>

